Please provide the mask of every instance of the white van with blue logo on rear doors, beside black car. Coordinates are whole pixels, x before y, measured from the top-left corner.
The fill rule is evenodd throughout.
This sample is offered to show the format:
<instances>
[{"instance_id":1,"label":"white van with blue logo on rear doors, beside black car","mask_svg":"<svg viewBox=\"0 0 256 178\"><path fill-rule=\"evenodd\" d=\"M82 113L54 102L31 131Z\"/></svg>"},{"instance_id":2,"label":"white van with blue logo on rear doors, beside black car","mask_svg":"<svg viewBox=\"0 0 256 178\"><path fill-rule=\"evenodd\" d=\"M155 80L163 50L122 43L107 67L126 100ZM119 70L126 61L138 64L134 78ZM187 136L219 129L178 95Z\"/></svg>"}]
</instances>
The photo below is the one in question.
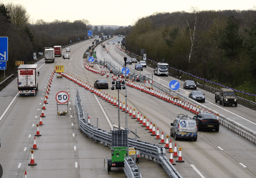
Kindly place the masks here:
<instances>
[{"instance_id":1,"label":"white van with blue logo on rear doors, beside black car","mask_svg":"<svg viewBox=\"0 0 256 178\"><path fill-rule=\"evenodd\" d=\"M184 114L178 114L171 123L170 135L174 139L197 139L196 121L192 117Z\"/></svg>"}]
</instances>

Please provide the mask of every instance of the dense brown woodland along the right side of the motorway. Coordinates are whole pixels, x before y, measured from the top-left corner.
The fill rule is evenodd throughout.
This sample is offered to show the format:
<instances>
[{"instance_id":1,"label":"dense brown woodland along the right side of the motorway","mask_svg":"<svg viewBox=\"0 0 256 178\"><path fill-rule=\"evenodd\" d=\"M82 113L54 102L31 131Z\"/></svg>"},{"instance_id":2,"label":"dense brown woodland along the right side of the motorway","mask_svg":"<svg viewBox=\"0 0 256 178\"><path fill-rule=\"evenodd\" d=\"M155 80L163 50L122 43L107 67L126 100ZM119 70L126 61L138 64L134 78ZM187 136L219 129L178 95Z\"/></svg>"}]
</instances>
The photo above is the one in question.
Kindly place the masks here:
<instances>
[{"instance_id":1,"label":"dense brown woodland along the right side of the motorway","mask_svg":"<svg viewBox=\"0 0 256 178\"><path fill-rule=\"evenodd\" d=\"M256 11L155 13L138 19L125 47L204 79L256 86ZM254 87L256 93L256 87Z\"/></svg>"}]
</instances>

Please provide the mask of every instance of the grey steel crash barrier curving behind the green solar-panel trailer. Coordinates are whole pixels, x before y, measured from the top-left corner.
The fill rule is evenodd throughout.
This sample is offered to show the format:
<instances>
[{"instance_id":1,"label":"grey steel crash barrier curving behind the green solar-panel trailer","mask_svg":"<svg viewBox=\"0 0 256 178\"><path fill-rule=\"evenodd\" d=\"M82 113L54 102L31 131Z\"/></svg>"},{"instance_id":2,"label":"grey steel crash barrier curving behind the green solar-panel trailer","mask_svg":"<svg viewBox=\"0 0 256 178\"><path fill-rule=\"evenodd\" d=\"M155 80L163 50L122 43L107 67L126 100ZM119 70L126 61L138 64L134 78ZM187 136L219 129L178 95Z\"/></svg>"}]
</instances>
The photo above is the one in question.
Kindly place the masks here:
<instances>
[{"instance_id":1,"label":"grey steel crash barrier curving behind the green solar-panel trailer","mask_svg":"<svg viewBox=\"0 0 256 178\"><path fill-rule=\"evenodd\" d=\"M94 127L92 124L87 122L87 118L85 118L85 114L82 109L81 99L79 97L78 91L75 97L75 101L81 131L87 135L87 137L93 139L94 142L102 142L104 144L108 144L110 147L112 144L110 132ZM162 165L163 169L166 171L169 177L181 177L175 167L168 161L169 159L166 158L166 150L164 147L130 138L128 138L128 145L130 147L136 148L136 150L139 150L140 154L146 155L148 158L151 157L152 159L156 159L158 164ZM131 170L129 172L131 172Z\"/></svg>"}]
</instances>

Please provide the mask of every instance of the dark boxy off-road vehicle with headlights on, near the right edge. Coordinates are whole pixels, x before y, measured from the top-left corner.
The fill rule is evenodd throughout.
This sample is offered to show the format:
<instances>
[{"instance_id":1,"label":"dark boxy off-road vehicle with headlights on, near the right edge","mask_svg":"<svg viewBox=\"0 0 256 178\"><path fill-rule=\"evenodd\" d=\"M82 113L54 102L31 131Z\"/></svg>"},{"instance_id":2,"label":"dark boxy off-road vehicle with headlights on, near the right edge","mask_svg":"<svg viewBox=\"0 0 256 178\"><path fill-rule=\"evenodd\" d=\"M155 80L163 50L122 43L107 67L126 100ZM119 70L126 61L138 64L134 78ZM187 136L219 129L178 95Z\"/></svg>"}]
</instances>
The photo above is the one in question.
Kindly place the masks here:
<instances>
[{"instance_id":1,"label":"dark boxy off-road vehicle with headlights on, near the right edge","mask_svg":"<svg viewBox=\"0 0 256 178\"><path fill-rule=\"evenodd\" d=\"M219 104L223 103L223 107L225 107L227 104L234 104L234 107L237 107L237 96L232 89L219 89L219 92L215 93L215 103L218 101Z\"/></svg>"}]
</instances>

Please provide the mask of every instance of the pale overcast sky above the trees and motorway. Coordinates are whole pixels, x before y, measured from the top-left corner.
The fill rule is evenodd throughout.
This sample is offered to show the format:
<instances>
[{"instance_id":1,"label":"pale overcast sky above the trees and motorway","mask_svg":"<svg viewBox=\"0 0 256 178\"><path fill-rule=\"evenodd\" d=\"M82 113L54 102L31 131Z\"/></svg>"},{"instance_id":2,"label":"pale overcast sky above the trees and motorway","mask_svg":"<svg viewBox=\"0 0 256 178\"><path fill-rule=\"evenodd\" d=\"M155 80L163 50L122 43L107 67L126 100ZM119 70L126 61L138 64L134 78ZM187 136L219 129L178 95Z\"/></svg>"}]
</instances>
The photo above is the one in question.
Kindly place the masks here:
<instances>
[{"instance_id":1,"label":"pale overcast sky above the trees and motorway","mask_svg":"<svg viewBox=\"0 0 256 178\"><path fill-rule=\"evenodd\" d=\"M30 16L50 22L87 19L94 25L133 25L138 19L154 12L191 11L191 6L202 10L248 10L256 8L256 1L234 0L0 0L0 3L22 4ZM256 10L256 9L255 9Z\"/></svg>"}]
</instances>

